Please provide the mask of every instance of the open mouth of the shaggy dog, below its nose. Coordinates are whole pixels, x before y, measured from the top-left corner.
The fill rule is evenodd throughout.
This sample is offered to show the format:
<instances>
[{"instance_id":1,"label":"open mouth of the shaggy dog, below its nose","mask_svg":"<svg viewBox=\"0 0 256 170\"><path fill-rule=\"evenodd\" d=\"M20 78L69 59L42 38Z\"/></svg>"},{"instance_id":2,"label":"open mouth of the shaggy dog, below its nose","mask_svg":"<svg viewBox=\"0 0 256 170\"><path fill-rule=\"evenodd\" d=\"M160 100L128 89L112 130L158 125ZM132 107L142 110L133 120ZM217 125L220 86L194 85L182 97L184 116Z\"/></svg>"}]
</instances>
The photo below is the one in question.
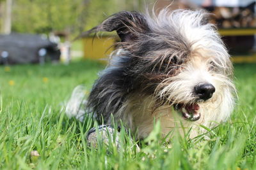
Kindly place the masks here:
<instances>
[{"instance_id":1,"label":"open mouth of the shaggy dog, below its nose","mask_svg":"<svg viewBox=\"0 0 256 170\"><path fill-rule=\"evenodd\" d=\"M201 115L198 104L175 104L174 109L178 111L185 120L196 121Z\"/></svg>"}]
</instances>

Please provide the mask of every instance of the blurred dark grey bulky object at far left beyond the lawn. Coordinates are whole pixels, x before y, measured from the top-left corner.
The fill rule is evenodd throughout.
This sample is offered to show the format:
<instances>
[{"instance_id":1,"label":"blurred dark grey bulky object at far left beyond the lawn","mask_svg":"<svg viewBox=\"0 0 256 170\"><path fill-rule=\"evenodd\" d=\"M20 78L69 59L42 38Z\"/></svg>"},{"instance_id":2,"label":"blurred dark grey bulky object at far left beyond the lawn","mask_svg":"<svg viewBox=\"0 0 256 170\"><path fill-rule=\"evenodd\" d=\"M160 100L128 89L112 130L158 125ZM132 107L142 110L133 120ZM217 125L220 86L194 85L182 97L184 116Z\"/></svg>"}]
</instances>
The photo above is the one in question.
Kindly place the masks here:
<instances>
[{"instance_id":1,"label":"blurred dark grey bulky object at far left beyond the lawn","mask_svg":"<svg viewBox=\"0 0 256 170\"><path fill-rule=\"evenodd\" d=\"M0 64L28 64L60 60L56 43L36 34L0 34Z\"/></svg>"}]
</instances>

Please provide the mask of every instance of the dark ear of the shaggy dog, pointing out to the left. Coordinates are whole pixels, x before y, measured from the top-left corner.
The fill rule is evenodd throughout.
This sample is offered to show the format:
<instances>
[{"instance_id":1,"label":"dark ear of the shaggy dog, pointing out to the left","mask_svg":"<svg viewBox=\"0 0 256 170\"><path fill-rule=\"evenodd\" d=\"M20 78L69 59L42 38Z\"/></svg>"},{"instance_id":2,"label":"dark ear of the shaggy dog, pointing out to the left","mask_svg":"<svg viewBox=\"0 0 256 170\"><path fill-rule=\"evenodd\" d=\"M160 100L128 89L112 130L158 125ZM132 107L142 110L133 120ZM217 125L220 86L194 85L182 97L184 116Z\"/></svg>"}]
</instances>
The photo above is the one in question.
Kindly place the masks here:
<instances>
[{"instance_id":1,"label":"dark ear of the shaggy dog, pointing out to the left","mask_svg":"<svg viewBox=\"0 0 256 170\"><path fill-rule=\"evenodd\" d=\"M86 34L97 31L116 31L122 42L136 40L140 34L148 32L145 15L136 11L121 11L111 15L102 24L94 27Z\"/></svg>"}]
</instances>

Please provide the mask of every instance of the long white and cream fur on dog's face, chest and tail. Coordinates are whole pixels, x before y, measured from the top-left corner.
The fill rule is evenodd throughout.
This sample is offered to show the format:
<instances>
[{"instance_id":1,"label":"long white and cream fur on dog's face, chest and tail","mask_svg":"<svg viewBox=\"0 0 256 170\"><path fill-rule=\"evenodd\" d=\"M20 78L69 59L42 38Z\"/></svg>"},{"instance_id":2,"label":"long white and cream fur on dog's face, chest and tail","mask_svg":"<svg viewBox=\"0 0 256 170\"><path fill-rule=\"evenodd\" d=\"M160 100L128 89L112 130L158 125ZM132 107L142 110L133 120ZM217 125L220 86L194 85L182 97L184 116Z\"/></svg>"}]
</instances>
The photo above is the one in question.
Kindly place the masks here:
<instances>
[{"instance_id":1,"label":"long white and cream fur on dog's face, chest and tail","mask_svg":"<svg viewBox=\"0 0 256 170\"><path fill-rule=\"evenodd\" d=\"M121 119L132 131L138 130L139 138L148 136L152 131L154 120L161 121L163 134L168 134L174 127L181 127L180 122L182 122L186 129L192 127L192 138L204 131L198 125L211 128L230 117L234 108L235 91L230 79L232 63L220 35L212 24L202 24L203 17L203 11L189 10L177 10L172 13L162 10L158 16L148 16L151 29L161 32L166 31L161 27L166 25L173 27L172 31L176 32L164 32L164 34L181 34L192 49L192 56L189 56L190 60L182 66L182 71L160 83L154 95L159 98L168 96L166 101L173 103L191 103L195 101L193 89L198 83L211 83L216 88L216 92L211 99L198 103L201 117L196 122L188 122L177 117L178 114L170 104L164 104L152 114L151 108L156 101L153 94L146 98L141 98L140 94L129 96L114 117L116 120ZM118 56L114 57L118 59ZM211 66L211 62L214 66ZM115 63L110 65L115 67ZM212 71L211 67L215 71ZM79 107L84 96L80 96L77 92L79 90L75 89L66 111L69 117L74 116L83 120L81 115L84 111L79 110ZM183 129L180 128L180 131Z\"/></svg>"}]
</instances>

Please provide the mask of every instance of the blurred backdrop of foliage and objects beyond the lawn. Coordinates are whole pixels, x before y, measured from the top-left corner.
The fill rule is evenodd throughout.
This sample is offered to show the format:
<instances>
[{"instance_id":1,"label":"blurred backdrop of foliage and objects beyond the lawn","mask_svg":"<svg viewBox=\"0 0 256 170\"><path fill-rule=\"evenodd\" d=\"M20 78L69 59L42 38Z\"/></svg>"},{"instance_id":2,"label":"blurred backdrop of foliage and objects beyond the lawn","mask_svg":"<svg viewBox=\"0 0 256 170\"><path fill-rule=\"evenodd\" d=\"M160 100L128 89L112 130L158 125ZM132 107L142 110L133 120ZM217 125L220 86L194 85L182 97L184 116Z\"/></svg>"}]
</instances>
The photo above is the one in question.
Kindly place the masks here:
<instances>
[{"instance_id":1,"label":"blurred backdrop of foliage and objects beyond the lawn","mask_svg":"<svg viewBox=\"0 0 256 170\"><path fill-rule=\"evenodd\" d=\"M209 11L232 60L256 62L253 0L0 0L0 64L104 60L115 50L114 33L72 40L115 12L153 6Z\"/></svg>"}]
</instances>

